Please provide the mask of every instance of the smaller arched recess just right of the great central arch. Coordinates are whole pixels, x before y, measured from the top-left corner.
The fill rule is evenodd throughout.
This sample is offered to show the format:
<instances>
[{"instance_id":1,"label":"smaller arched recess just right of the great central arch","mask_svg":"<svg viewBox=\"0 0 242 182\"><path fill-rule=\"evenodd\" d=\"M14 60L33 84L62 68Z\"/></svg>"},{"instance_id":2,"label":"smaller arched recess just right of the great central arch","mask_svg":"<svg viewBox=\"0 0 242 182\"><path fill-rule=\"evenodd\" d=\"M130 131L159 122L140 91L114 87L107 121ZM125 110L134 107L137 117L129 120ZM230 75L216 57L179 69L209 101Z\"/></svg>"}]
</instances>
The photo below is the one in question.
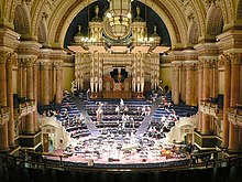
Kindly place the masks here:
<instances>
[{"instance_id":1,"label":"smaller arched recess just right of the great central arch","mask_svg":"<svg viewBox=\"0 0 242 182\"><path fill-rule=\"evenodd\" d=\"M197 44L199 38L198 24L195 21L190 21L188 26L188 43Z\"/></svg>"}]
</instances>

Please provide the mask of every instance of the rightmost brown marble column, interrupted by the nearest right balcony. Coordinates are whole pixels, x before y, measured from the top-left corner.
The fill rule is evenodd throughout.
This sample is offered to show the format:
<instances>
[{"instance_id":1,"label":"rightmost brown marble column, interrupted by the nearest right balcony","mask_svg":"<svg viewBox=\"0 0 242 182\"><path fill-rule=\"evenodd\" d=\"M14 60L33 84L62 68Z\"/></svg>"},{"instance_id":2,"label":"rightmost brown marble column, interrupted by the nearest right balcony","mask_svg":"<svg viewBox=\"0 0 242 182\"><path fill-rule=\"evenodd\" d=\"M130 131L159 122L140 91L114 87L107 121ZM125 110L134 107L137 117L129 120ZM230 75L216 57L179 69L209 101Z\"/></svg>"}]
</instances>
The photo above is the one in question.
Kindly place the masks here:
<instances>
[{"instance_id":1,"label":"rightmost brown marble column, interrupted by the nearest right balcony","mask_svg":"<svg viewBox=\"0 0 242 182\"><path fill-rule=\"evenodd\" d=\"M230 107L235 107L240 99L240 54L233 53L231 56L231 96L230 96ZM239 128L230 122L229 131L229 150L239 150Z\"/></svg>"}]
</instances>

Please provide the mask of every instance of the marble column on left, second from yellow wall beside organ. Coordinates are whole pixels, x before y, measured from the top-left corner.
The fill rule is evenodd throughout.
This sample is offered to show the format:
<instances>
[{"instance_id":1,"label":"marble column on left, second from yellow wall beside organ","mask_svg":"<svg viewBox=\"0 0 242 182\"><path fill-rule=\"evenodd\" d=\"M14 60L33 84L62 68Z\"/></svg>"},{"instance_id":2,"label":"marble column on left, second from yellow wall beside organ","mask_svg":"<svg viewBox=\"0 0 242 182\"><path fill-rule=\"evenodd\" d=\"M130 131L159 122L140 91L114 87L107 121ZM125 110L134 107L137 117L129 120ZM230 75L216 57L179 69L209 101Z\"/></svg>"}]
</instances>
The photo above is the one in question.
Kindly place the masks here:
<instances>
[{"instance_id":1,"label":"marble column on left, second from yellow wall beside organ","mask_svg":"<svg viewBox=\"0 0 242 182\"><path fill-rule=\"evenodd\" d=\"M48 67L50 63L41 62L41 68L42 68L42 105L48 105L50 104L50 94L48 94Z\"/></svg>"}]
</instances>

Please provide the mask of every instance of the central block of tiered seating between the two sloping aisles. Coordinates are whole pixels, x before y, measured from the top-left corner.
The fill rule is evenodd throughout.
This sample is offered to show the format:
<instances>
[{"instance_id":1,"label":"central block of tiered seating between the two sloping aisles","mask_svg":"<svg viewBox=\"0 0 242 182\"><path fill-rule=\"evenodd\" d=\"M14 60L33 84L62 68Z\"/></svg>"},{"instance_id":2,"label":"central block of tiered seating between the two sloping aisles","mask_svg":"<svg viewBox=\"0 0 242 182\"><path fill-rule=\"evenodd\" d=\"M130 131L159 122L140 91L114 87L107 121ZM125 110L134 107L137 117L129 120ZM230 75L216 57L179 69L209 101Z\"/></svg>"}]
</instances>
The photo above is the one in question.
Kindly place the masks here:
<instances>
[{"instance_id":1,"label":"central block of tiered seating between the two sloping aisles","mask_svg":"<svg viewBox=\"0 0 242 182\"><path fill-rule=\"evenodd\" d=\"M120 109L118 114L116 111L117 106L120 106L120 100L89 100L86 104L86 110L91 117L96 127L99 128L101 133L114 133L114 135L125 135L127 132L135 132L136 128L142 124L144 116L141 116L141 111L138 108L151 107L151 103L146 100L125 100L124 107L128 110ZM97 119L97 109L101 103L101 108L103 110L101 121ZM129 116L127 120L123 120L124 116Z\"/></svg>"}]
</instances>

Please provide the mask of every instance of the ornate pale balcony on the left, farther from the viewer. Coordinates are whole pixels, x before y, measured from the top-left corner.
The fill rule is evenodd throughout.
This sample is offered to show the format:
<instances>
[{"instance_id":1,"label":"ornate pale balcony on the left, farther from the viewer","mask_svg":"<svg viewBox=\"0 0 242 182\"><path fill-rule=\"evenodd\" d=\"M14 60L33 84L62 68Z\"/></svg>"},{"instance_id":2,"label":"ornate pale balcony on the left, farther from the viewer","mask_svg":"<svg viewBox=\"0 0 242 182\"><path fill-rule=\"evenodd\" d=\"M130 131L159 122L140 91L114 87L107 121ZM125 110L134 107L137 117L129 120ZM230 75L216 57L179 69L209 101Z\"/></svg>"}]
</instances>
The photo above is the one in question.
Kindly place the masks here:
<instances>
[{"instance_id":1,"label":"ornate pale balcony on the left, farther from the viewer","mask_svg":"<svg viewBox=\"0 0 242 182\"><path fill-rule=\"evenodd\" d=\"M21 117L32 114L36 110L36 101L28 100L22 104L19 104L18 107L14 107L14 119L19 120Z\"/></svg>"}]
</instances>

